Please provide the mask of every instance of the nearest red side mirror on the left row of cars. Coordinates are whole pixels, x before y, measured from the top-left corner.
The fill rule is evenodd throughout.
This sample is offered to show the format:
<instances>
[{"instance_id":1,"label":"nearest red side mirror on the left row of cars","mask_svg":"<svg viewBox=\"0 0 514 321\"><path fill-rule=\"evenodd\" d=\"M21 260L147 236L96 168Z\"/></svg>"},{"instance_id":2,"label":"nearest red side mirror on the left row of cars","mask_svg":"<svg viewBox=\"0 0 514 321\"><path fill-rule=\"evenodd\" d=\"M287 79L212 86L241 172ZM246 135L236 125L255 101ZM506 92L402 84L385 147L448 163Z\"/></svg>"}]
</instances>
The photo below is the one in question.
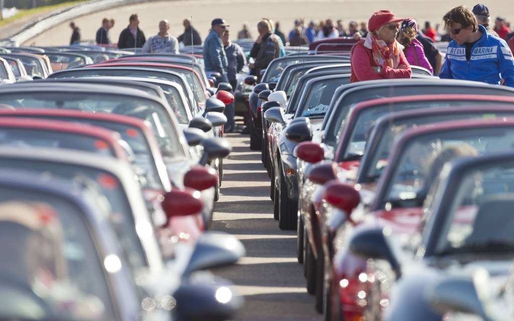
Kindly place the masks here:
<instances>
[{"instance_id":1,"label":"nearest red side mirror on the left row of cars","mask_svg":"<svg viewBox=\"0 0 514 321\"><path fill-rule=\"evenodd\" d=\"M161 205L168 219L173 216L196 214L204 206L200 200L200 192L187 187L184 190L174 188L164 194Z\"/></svg>"}]
</instances>

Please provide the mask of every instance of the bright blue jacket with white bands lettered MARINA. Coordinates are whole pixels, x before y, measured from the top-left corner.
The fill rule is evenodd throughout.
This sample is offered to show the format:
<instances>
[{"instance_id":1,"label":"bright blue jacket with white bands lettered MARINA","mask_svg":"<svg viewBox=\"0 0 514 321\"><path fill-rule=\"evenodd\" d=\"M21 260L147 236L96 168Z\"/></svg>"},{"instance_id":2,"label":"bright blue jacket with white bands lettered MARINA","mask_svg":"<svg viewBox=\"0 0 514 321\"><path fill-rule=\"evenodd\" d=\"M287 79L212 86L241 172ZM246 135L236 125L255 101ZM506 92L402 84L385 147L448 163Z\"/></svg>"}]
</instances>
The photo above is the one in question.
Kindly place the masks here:
<instances>
[{"instance_id":1,"label":"bright blue jacket with white bands lettered MARINA","mask_svg":"<svg viewBox=\"0 0 514 321\"><path fill-rule=\"evenodd\" d=\"M488 84L500 84L514 87L514 58L507 43L487 34L479 25L482 37L471 48L471 57L466 60L466 46L458 45L455 40L448 44L445 62L439 73L442 79L463 79L480 81Z\"/></svg>"}]
</instances>

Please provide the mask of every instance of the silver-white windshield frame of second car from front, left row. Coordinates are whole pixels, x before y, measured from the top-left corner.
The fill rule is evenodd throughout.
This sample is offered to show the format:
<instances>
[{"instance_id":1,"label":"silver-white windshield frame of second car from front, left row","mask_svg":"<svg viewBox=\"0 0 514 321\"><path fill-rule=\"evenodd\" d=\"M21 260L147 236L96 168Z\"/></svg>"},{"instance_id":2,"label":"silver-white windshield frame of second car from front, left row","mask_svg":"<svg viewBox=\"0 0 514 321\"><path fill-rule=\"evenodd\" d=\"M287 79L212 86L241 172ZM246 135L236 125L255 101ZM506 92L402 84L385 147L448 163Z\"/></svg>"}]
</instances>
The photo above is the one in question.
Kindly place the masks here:
<instances>
[{"instance_id":1,"label":"silver-white windshield frame of second car from front, left row","mask_svg":"<svg viewBox=\"0 0 514 321\"><path fill-rule=\"evenodd\" d=\"M116 176L123 189L127 192L127 199L131 203L134 222L143 248L146 259L151 270L162 270L163 263L160 249L157 244L153 223L141 193L141 189L134 180L130 165L119 161L116 158L85 153L81 151L69 151L64 149L48 148L19 148L12 146L0 146L0 159L27 159L34 161L49 161L64 164L77 164L91 168L98 168L101 171ZM49 186L47 186L49 187ZM149 227L151 226L151 229Z\"/></svg>"}]
</instances>

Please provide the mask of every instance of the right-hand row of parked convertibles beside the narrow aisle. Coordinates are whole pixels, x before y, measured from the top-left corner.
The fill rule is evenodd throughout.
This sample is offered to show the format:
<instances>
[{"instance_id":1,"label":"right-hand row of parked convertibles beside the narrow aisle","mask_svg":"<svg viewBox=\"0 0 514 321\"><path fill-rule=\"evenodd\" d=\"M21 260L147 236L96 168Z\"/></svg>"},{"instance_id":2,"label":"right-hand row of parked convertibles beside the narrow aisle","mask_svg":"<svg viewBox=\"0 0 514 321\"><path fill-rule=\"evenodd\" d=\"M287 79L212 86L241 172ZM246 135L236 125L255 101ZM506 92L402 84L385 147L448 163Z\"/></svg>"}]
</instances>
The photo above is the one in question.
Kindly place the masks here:
<instances>
[{"instance_id":1,"label":"right-hand row of parked convertibles beside the narrow aisle","mask_svg":"<svg viewBox=\"0 0 514 321\"><path fill-rule=\"evenodd\" d=\"M306 53L254 86L250 148L279 228L297 230L315 308L514 318L514 90L415 66L412 79L350 84L348 51Z\"/></svg>"}]
</instances>

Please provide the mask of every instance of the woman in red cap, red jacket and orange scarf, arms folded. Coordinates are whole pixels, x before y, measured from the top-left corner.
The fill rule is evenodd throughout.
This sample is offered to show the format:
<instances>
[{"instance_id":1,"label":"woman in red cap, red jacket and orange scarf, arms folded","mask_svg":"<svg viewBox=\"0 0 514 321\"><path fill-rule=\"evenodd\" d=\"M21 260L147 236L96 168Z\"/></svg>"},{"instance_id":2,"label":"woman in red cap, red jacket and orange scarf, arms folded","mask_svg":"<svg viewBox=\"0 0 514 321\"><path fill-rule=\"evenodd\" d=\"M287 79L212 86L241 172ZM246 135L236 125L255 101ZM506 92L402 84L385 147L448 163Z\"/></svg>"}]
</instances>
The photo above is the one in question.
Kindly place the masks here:
<instances>
[{"instance_id":1,"label":"woman in red cap, red jacket and orange scarf, arms folded","mask_svg":"<svg viewBox=\"0 0 514 321\"><path fill-rule=\"evenodd\" d=\"M380 10L368 21L369 33L350 52L350 81L411 78L411 67L396 35L403 21L389 10Z\"/></svg>"}]
</instances>

